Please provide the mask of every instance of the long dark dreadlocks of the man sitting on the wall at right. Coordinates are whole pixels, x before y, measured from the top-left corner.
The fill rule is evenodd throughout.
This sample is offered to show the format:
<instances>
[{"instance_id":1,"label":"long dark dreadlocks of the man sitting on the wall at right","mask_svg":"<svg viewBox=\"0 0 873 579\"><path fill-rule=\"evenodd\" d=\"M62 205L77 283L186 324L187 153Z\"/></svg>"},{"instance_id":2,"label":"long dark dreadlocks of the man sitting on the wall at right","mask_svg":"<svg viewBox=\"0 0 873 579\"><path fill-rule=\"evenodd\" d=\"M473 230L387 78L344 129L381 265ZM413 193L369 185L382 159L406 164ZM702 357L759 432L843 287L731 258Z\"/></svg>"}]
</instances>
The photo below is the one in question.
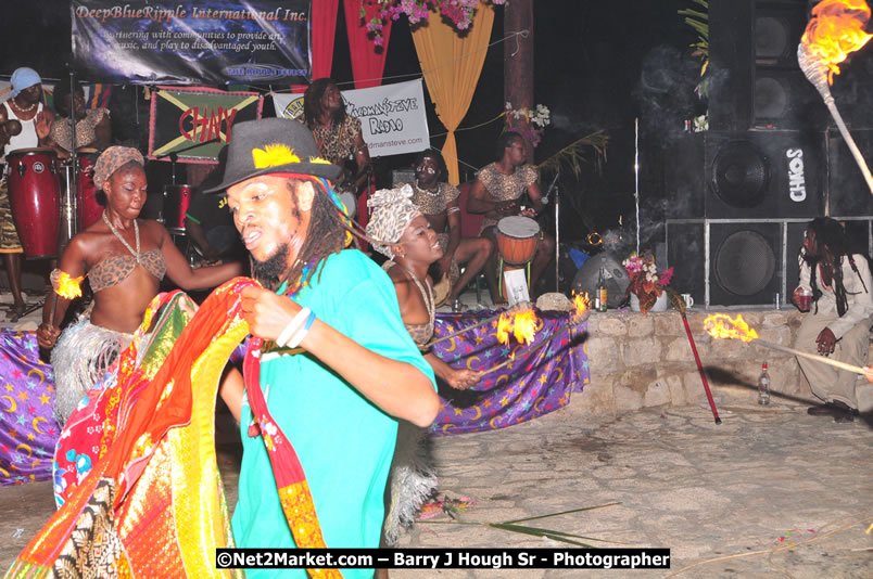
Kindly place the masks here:
<instances>
[{"instance_id":1,"label":"long dark dreadlocks of the man sitting on the wall at right","mask_svg":"<svg viewBox=\"0 0 873 579\"><path fill-rule=\"evenodd\" d=\"M822 262L828 262L827 253L830 252L833 256L833 279L831 283L834 286L834 295L836 296L837 314L842 318L849 309L848 301L846 299L846 287L843 284L844 256L846 259L848 259L849 266L851 266L855 274L861 279L861 274L858 272L858 267L855 265L855 257L852 256L849 241L846 237L846 232L838 221L830 217L817 217L809 222L807 230L812 232L814 235L817 246L814 255L810 255L806 250L804 252L804 259L810 266L809 283L812 287L812 301L815 303L815 311L819 311L818 300L822 295L817 280L819 271L817 266ZM861 285L864 286L864 291L868 291L863 279L861 279Z\"/></svg>"}]
</instances>

